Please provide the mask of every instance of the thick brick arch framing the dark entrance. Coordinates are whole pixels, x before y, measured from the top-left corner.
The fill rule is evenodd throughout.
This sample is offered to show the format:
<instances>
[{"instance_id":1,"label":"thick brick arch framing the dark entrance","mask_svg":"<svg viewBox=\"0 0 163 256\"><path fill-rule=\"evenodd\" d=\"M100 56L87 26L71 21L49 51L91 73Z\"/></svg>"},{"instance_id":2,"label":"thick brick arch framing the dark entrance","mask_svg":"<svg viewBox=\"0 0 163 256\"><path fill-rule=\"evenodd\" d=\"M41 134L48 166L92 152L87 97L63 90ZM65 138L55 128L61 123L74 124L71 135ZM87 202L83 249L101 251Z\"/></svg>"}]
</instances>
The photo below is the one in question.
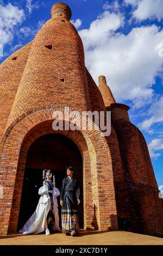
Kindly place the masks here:
<instances>
[{"instance_id":1,"label":"thick brick arch framing the dark entrance","mask_svg":"<svg viewBox=\"0 0 163 256\"><path fill-rule=\"evenodd\" d=\"M73 110L73 109L71 109ZM12 124L4 137L1 150L1 185L4 199L1 204L0 234L15 231L19 211L22 179L30 145L42 135L60 133L77 144L83 159L84 228L117 229L116 203L111 155L99 130L54 131L53 111L64 107L35 109Z\"/></svg>"}]
</instances>

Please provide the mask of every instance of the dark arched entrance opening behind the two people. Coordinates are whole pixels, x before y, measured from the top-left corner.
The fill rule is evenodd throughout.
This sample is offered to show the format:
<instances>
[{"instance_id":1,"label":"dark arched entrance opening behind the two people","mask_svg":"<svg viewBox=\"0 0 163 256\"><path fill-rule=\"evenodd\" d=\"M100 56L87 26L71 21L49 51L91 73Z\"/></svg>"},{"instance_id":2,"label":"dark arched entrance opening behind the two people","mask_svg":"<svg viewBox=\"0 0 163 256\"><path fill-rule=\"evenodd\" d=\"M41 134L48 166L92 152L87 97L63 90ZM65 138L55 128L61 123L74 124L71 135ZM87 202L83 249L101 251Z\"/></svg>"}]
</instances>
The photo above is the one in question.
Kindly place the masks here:
<instances>
[{"instance_id":1,"label":"dark arched entrance opening behind the two people","mask_svg":"<svg viewBox=\"0 0 163 256\"><path fill-rule=\"evenodd\" d=\"M23 227L36 209L40 198L38 190L42 186L42 170L52 170L56 187L60 190L61 182L66 175L66 166L73 166L74 177L79 182L82 199L79 205L79 227L84 228L82 156L77 145L70 138L53 133L37 138L28 150L17 231ZM59 197L58 205L60 214Z\"/></svg>"}]
</instances>

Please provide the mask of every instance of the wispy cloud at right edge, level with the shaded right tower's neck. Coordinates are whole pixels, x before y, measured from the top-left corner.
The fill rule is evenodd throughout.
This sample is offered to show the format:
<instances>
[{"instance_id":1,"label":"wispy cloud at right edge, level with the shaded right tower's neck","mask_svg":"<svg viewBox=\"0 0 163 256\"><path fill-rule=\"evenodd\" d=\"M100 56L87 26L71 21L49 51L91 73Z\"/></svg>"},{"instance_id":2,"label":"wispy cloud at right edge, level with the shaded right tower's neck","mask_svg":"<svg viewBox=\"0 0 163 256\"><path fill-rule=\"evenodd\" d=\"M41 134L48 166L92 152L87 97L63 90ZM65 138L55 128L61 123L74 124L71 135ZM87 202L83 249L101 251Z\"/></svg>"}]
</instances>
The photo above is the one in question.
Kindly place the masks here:
<instances>
[{"instance_id":1,"label":"wispy cloud at right edge, level with the shaded right tower's neck","mask_svg":"<svg viewBox=\"0 0 163 256\"><path fill-rule=\"evenodd\" d=\"M151 126L156 123L163 122L163 96L160 100L156 101L151 108L149 108L148 115L149 118L145 119L141 124L140 128L141 130L145 130L148 133L151 131Z\"/></svg>"}]
</instances>

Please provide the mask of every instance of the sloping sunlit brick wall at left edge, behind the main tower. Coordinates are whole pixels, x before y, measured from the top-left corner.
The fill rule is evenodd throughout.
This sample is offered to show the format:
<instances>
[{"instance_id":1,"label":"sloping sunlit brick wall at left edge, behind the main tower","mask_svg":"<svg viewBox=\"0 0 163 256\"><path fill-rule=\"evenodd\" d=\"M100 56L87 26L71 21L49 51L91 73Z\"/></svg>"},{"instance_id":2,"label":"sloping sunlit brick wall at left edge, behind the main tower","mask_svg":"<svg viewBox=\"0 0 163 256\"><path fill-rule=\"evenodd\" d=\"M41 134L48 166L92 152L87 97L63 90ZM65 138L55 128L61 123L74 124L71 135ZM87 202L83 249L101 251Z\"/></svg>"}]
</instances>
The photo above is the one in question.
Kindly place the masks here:
<instances>
[{"instance_id":1,"label":"sloping sunlit brick wall at left edge, behind the main tower","mask_svg":"<svg viewBox=\"0 0 163 256\"><path fill-rule=\"evenodd\" d=\"M0 65L0 142L15 100L32 42L14 52ZM17 57L16 60L13 58Z\"/></svg>"}]
</instances>

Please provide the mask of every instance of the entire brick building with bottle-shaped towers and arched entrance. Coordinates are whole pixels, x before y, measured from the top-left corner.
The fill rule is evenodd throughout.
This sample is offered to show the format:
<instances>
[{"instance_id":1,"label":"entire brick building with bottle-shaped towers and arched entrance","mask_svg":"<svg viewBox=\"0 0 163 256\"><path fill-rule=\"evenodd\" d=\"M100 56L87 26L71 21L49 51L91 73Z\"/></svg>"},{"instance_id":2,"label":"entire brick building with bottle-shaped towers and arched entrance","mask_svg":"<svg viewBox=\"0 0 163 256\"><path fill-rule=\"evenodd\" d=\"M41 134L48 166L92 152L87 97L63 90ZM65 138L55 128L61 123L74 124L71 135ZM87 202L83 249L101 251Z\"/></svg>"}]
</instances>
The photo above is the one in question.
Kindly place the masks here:
<instances>
[{"instance_id":1,"label":"entire brick building with bottle-shaped towers and arched entrance","mask_svg":"<svg viewBox=\"0 0 163 256\"><path fill-rule=\"evenodd\" d=\"M51 14L35 39L0 65L0 234L19 230L35 210L43 169L52 170L60 187L71 165L82 191L80 228L163 235L163 205L145 138L105 77L97 87L87 71L70 8L57 3ZM111 111L110 136L95 126L55 131L53 112L66 107Z\"/></svg>"}]
</instances>

